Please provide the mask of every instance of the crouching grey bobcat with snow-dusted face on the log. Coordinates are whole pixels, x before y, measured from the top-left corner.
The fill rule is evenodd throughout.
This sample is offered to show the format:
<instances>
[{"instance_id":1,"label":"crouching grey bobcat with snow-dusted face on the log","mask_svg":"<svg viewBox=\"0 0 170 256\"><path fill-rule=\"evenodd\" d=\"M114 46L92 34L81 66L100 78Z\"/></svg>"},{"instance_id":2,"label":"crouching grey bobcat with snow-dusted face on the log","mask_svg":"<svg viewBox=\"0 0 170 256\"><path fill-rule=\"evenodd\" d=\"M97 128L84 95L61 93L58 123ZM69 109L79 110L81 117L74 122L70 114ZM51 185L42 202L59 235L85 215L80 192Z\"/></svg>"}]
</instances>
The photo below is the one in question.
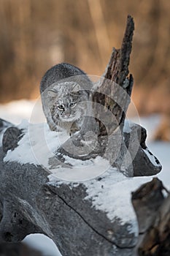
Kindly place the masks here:
<instances>
[{"instance_id":1,"label":"crouching grey bobcat with snow-dusted face on the log","mask_svg":"<svg viewBox=\"0 0 170 256\"><path fill-rule=\"evenodd\" d=\"M90 110L92 82L81 69L61 63L50 68L42 78L42 108L51 130L78 131Z\"/></svg>"}]
</instances>

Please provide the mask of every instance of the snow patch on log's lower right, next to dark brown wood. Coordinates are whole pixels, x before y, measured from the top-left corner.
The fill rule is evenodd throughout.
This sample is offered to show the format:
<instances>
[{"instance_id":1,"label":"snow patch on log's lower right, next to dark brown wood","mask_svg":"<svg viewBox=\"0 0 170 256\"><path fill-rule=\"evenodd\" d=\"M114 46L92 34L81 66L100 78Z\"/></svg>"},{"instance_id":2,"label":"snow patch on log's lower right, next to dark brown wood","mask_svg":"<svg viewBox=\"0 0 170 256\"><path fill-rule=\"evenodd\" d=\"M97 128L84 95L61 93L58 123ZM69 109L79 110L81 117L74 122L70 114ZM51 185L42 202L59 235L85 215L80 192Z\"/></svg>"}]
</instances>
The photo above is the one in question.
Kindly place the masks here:
<instances>
[{"instance_id":1,"label":"snow patch on log's lower right, next to dark brown wood","mask_svg":"<svg viewBox=\"0 0 170 256\"><path fill-rule=\"evenodd\" d=\"M114 175L111 174L114 172ZM131 192L135 191L151 177L127 178L115 168L110 168L107 173L100 176L100 181L86 181L85 187L88 196L85 200L91 200L93 206L107 212L107 217L114 222L120 218L121 225L129 223L129 231L137 236L138 227L136 214L131 205Z\"/></svg>"}]
</instances>

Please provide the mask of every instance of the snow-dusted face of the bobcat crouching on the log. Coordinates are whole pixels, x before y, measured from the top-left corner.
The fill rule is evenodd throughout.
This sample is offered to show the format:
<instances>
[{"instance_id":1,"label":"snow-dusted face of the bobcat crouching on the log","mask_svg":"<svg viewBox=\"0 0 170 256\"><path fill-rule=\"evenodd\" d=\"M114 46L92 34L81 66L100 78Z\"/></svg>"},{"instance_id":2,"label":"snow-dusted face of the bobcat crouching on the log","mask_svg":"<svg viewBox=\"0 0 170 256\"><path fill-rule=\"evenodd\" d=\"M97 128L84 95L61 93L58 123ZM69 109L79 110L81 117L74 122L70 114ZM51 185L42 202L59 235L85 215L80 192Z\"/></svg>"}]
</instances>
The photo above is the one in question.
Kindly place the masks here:
<instances>
[{"instance_id":1,"label":"snow-dusted face of the bobcat crouching on the log","mask_svg":"<svg viewBox=\"0 0 170 256\"><path fill-rule=\"evenodd\" d=\"M76 83L61 83L48 91L50 114L55 124L58 121L74 122L85 116L88 93L80 90ZM58 120L59 119L59 120Z\"/></svg>"}]
</instances>

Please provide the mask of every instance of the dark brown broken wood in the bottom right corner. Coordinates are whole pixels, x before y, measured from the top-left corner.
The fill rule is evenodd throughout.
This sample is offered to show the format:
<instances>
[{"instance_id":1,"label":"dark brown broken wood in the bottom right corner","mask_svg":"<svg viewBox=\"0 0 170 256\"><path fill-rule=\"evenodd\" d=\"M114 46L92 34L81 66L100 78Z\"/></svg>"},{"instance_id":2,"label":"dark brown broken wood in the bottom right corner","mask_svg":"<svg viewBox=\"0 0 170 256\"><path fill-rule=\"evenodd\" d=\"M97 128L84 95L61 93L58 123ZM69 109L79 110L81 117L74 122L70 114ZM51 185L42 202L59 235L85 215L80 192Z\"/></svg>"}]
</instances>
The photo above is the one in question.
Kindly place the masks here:
<instances>
[{"instance_id":1,"label":"dark brown broken wood in the bottom right corner","mask_svg":"<svg viewBox=\"0 0 170 256\"><path fill-rule=\"evenodd\" d=\"M139 223L138 255L169 255L170 192L153 178L132 194L132 203Z\"/></svg>"}]
</instances>

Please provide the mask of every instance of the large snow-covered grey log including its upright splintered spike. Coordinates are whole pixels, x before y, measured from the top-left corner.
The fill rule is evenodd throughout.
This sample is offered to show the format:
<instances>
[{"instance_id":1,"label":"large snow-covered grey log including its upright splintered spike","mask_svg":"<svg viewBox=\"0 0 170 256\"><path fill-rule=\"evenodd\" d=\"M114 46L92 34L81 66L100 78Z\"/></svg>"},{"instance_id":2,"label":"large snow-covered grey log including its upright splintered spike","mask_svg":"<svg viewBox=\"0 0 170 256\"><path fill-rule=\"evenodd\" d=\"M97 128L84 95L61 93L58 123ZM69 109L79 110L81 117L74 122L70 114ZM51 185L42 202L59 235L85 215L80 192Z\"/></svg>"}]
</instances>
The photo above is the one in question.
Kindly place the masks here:
<instances>
[{"instance_id":1,"label":"large snow-covered grey log including its upright splintered spike","mask_svg":"<svg viewBox=\"0 0 170 256\"><path fill-rule=\"evenodd\" d=\"M136 179L127 176L154 175L161 170L161 164L145 144L146 130L125 121L133 86L132 75L128 75L133 32L134 21L128 16L122 47L113 49L104 77L93 86L92 116L82 124L81 132L55 148L53 157L48 154L45 124L38 129L33 124L20 128L0 119L1 241L18 242L30 233L44 233L63 256L135 256L136 251L144 252L144 239L137 244L140 233L130 197L131 191L149 178L141 178L136 184ZM57 137L52 133L48 131L50 143ZM95 163L104 170L81 181L62 180L58 173L54 176L53 170L61 175L66 170L72 177L77 162L80 167L88 164L84 173L91 165L96 167ZM154 187L149 192L155 194ZM151 203L163 206L159 203L162 195L155 195L158 201ZM134 194L141 228L136 198ZM163 206L162 217L168 218L167 209ZM156 215L151 214L157 227ZM144 223L150 227L147 216ZM160 234L166 223L160 226ZM150 236L149 230L147 233ZM159 241L167 244L163 236ZM153 246L151 243L150 248Z\"/></svg>"}]
</instances>

